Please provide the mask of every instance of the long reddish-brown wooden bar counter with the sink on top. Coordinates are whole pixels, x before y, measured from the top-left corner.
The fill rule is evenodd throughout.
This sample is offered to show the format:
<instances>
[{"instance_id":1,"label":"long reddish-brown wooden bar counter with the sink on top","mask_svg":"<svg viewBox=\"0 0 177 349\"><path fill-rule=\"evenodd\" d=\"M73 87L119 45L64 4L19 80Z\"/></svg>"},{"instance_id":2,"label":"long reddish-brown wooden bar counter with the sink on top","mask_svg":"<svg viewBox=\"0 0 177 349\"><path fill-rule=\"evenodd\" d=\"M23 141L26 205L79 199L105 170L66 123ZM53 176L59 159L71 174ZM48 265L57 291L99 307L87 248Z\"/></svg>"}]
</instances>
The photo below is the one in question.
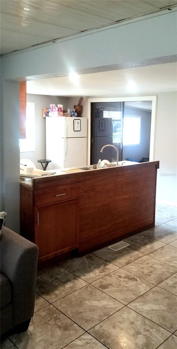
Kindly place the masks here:
<instances>
[{"instance_id":1,"label":"long reddish-brown wooden bar counter with the sink on top","mask_svg":"<svg viewBox=\"0 0 177 349\"><path fill-rule=\"evenodd\" d=\"M20 232L39 261L79 255L154 227L159 161L32 178L20 186Z\"/></svg>"}]
</instances>

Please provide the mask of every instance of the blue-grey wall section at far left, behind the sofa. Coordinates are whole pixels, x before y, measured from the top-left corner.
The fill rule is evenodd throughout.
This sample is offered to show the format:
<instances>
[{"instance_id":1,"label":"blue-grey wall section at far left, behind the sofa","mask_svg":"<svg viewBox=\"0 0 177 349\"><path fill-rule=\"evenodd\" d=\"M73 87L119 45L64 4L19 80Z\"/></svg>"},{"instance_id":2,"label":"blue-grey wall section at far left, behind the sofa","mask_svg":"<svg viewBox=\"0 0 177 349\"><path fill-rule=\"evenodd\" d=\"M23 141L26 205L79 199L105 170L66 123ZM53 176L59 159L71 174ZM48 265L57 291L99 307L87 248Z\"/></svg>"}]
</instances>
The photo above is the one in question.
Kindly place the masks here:
<instances>
[{"instance_id":1,"label":"blue-grey wall section at far left, behind the sofa","mask_svg":"<svg viewBox=\"0 0 177 349\"><path fill-rule=\"evenodd\" d=\"M1 207L7 227L19 232L20 224L20 107L19 83L1 81ZM10 103L9 103L10 101ZM2 114L5 116L2 118ZM4 180L3 180L4 179Z\"/></svg>"}]
</instances>

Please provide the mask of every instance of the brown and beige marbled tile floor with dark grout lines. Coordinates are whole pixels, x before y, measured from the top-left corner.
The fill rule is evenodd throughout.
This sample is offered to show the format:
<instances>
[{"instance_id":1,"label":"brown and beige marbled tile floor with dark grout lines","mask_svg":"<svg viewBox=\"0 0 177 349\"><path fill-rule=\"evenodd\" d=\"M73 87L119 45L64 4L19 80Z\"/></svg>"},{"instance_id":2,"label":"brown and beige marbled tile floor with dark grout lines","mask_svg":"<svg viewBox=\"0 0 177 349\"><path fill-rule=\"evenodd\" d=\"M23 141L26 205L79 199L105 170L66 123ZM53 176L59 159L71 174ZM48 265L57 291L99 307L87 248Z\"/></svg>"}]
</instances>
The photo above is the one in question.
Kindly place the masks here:
<instances>
[{"instance_id":1,"label":"brown and beige marbled tile floor with dark grout lines","mask_svg":"<svg viewBox=\"0 0 177 349\"><path fill-rule=\"evenodd\" d=\"M176 349L176 207L157 203L156 226L38 272L27 332L1 349Z\"/></svg>"}]
</instances>

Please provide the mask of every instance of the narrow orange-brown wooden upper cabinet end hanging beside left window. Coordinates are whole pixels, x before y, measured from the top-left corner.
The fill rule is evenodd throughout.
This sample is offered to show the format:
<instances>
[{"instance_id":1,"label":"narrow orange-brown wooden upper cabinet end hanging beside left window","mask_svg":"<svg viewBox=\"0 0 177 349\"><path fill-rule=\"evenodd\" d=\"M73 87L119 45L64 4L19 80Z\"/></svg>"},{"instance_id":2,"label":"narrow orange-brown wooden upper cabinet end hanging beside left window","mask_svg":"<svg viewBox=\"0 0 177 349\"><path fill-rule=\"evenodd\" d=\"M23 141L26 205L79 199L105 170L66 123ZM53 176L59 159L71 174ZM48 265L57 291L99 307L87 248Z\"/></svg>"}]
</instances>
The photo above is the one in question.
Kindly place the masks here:
<instances>
[{"instance_id":1,"label":"narrow orange-brown wooden upper cabinet end hanging beside left window","mask_svg":"<svg viewBox=\"0 0 177 349\"><path fill-rule=\"evenodd\" d=\"M26 81L20 82L20 139L26 138Z\"/></svg>"}]
</instances>

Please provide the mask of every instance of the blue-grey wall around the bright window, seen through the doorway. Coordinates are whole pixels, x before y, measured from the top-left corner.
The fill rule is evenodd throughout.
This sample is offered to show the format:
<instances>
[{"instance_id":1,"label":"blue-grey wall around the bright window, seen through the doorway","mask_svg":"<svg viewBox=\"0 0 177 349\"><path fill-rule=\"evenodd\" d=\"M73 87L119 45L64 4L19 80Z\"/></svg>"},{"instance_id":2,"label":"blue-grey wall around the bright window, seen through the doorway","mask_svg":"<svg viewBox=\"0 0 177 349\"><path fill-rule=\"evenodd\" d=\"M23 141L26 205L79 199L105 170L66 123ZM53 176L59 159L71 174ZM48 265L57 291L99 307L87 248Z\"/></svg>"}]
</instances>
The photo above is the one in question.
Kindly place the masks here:
<instances>
[{"instance_id":1,"label":"blue-grey wall around the bright window, seen through the doorway","mask_svg":"<svg viewBox=\"0 0 177 349\"><path fill-rule=\"evenodd\" d=\"M151 133L151 112L124 107L124 116L141 116L140 144L136 146L123 146L122 160L126 158L139 161L142 157L149 157L150 133Z\"/></svg>"}]
</instances>

